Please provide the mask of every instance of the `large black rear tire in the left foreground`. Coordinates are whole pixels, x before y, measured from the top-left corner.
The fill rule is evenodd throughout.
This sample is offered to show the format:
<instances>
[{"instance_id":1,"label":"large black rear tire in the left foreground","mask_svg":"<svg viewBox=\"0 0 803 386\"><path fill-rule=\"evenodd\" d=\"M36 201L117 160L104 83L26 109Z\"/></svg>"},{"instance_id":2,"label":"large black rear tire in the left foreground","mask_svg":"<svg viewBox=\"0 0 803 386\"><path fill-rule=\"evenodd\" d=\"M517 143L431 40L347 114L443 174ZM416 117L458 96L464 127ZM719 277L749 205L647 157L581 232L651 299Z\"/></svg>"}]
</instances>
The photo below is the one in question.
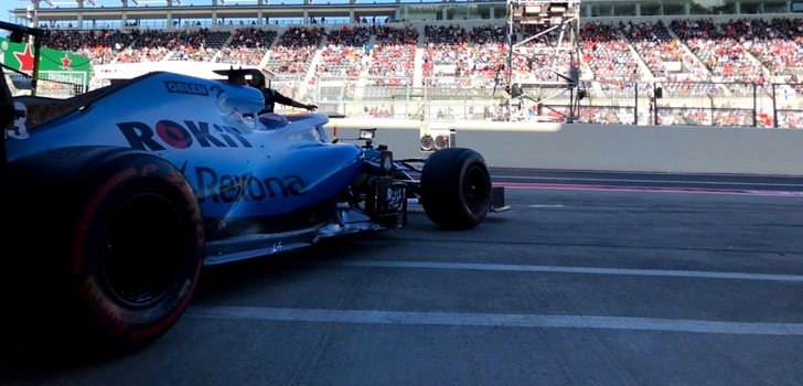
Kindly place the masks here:
<instances>
[{"instance_id":1,"label":"large black rear tire in the left foreground","mask_svg":"<svg viewBox=\"0 0 803 386\"><path fill-rule=\"evenodd\" d=\"M203 223L181 172L152 154L109 148L47 151L10 170L29 192L17 196L30 208L23 216L38 219L18 229L28 243L17 258L46 257L45 288L53 299L69 293L55 305L73 318L60 320L77 322L113 350L168 331L186 309L203 261Z\"/></svg>"}]
</instances>

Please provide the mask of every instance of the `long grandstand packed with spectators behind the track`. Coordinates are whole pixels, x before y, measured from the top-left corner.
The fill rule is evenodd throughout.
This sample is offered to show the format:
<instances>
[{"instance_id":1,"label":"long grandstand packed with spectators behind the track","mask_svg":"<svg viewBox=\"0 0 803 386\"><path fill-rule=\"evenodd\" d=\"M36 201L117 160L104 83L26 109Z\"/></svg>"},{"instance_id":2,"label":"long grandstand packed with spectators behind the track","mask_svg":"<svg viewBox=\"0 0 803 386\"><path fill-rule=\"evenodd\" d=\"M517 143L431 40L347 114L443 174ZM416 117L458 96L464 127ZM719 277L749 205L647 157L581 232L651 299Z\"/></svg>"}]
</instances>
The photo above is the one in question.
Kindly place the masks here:
<instances>
[{"instance_id":1,"label":"long grandstand packed with spectators behind the track","mask_svg":"<svg viewBox=\"0 0 803 386\"><path fill-rule=\"evenodd\" d=\"M257 65L276 73L274 86L297 100L355 117L558 119L570 103L536 104L504 89L500 69L508 65L514 82L549 76L543 42L516 47L525 60L508 64L506 2L210 2L101 8L32 0L12 13L53 30L45 45L94 64ZM583 1L579 120L803 128L799 8L777 0L709 8ZM521 30L512 36L523 37ZM513 106L512 117L503 106Z\"/></svg>"}]
</instances>

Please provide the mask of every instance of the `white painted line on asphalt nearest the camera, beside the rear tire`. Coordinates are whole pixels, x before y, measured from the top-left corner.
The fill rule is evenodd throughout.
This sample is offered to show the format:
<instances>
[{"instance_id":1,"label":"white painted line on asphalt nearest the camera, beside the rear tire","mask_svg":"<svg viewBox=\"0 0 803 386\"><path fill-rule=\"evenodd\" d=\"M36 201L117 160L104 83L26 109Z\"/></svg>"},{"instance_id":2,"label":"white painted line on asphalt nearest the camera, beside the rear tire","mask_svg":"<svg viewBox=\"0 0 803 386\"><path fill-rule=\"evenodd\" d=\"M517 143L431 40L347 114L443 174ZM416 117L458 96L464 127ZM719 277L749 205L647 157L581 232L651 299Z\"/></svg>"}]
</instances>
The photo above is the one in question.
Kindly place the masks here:
<instances>
[{"instance_id":1,"label":"white painted line on asphalt nearest the camera, beside the rear tire","mask_svg":"<svg viewBox=\"0 0 803 386\"><path fill-rule=\"evenodd\" d=\"M749 323L656 318L321 310L214 305L192 307L188 311L188 315L190 318L200 319L315 323L638 330L655 332L782 336L803 335L803 324L801 323Z\"/></svg>"}]
</instances>

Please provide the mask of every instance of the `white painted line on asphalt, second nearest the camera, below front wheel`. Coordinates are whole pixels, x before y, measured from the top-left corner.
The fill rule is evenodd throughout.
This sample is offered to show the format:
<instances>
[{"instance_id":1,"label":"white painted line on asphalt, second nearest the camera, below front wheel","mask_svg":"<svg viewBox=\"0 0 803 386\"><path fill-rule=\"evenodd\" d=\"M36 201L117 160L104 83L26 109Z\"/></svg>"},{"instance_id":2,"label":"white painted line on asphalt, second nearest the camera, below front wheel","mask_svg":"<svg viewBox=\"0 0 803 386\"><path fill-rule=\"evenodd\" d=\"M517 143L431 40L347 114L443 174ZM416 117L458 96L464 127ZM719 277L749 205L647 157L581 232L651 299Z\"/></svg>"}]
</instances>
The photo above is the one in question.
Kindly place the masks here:
<instances>
[{"instance_id":1,"label":"white painted line on asphalt, second nearest the camera, below front wheel","mask_svg":"<svg viewBox=\"0 0 803 386\"><path fill-rule=\"evenodd\" d=\"M673 269L630 269L630 268L597 268L597 267L567 267L567 266L528 266L510 264L479 264L479 262L443 262L443 261L371 261L352 260L326 264L339 267L365 268L422 268L422 269L451 269L451 270L484 270L508 272L546 272L546 274L585 274L585 275L617 275L644 276L664 278L694 278L718 280L763 280L783 282L803 282L803 275L773 275L746 272L716 272L699 270Z\"/></svg>"}]
</instances>

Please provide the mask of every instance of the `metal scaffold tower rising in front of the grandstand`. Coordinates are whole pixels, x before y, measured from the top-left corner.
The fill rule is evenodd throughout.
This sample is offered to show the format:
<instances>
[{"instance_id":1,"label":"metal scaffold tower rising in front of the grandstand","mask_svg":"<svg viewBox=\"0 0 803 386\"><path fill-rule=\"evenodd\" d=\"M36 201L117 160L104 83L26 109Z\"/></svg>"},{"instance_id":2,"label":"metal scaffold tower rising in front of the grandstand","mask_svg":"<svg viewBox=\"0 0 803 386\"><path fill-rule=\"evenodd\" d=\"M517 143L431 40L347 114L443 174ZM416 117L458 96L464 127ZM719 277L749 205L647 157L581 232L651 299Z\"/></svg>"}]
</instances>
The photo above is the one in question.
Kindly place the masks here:
<instances>
[{"instance_id":1,"label":"metal scaffold tower rising in front of the grandstand","mask_svg":"<svg viewBox=\"0 0 803 386\"><path fill-rule=\"evenodd\" d=\"M507 0L506 26L505 90L507 94L511 97L531 99L538 104L560 94L568 94L569 111L565 121L577 121L580 112L580 99L586 96L586 90L580 83L580 0ZM518 32L524 39L516 43ZM546 49L533 47L525 52L535 51L539 57L549 57L548 61L540 63L543 66L549 67L548 79L538 76L529 78L521 76L516 78L515 76L514 56L524 55L515 52L516 47L524 46L532 41L546 43ZM526 57L526 60L533 62L534 57ZM520 87L513 87L514 85ZM517 88L521 88L523 93L518 93ZM526 88L537 88L539 94L546 93L547 95L538 95L537 98L533 98L526 95ZM513 90L515 93L512 93ZM510 120L512 118L510 99L507 99L506 106L506 118Z\"/></svg>"}]
</instances>

